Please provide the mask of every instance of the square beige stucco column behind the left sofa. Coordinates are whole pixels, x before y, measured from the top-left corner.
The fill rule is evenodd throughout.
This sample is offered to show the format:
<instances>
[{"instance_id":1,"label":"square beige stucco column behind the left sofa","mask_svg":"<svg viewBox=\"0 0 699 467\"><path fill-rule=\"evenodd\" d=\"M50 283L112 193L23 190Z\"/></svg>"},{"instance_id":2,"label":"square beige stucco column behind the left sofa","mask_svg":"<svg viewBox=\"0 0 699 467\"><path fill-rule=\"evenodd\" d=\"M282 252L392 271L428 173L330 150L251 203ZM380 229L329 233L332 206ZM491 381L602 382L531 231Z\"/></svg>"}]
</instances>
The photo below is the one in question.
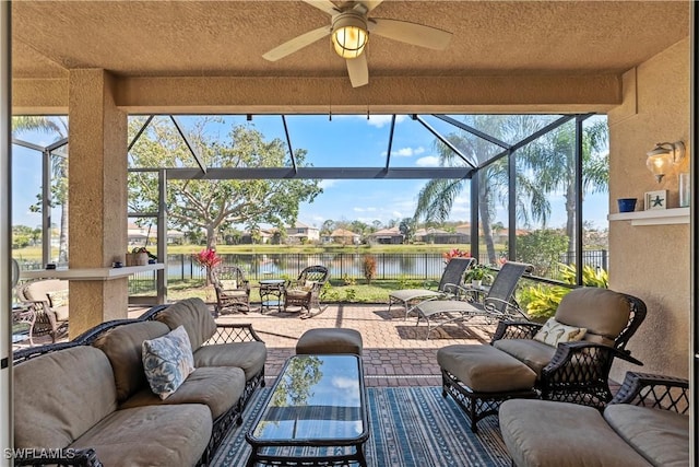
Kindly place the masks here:
<instances>
[{"instance_id":1,"label":"square beige stucco column behind the left sofa","mask_svg":"<svg viewBox=\"0 0 699 467\"><path fill-rule=\"evenodd\" d=\"M70 71L69 268L110 267L127 245L127 115L105 70ZM70 338L127 317L126 278L70 283Z\"/></svg>"}]
</instances>

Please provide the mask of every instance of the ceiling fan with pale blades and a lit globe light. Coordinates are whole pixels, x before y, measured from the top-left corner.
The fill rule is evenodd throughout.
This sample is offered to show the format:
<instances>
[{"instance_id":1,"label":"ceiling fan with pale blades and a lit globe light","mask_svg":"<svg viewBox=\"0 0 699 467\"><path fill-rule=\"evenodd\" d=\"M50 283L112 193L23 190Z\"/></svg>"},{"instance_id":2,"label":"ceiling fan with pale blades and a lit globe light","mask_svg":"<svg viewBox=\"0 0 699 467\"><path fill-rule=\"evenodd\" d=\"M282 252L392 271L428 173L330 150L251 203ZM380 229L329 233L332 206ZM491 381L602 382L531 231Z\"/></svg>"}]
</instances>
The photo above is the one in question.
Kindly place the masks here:
<instances>
[{"instance_id":1,"label":"ceiling fan with pale blades and a lit globe light","mask_svg":"<svg viewBox=\"0 0 699 467\"><path fill-rule=\"evenodd\" d=\"M262 56L276 61L331 35L335 52L346 59L347 73L353 87L369 83L367 56L364 54L370 34L403 43L442 50L449 45L451 33L424 24L401 20L368 17L383 0L351 1L342 7L330 0L303 0L332 16L330 26L309 31L273 48Z\"/></svg>"}]
</instances>

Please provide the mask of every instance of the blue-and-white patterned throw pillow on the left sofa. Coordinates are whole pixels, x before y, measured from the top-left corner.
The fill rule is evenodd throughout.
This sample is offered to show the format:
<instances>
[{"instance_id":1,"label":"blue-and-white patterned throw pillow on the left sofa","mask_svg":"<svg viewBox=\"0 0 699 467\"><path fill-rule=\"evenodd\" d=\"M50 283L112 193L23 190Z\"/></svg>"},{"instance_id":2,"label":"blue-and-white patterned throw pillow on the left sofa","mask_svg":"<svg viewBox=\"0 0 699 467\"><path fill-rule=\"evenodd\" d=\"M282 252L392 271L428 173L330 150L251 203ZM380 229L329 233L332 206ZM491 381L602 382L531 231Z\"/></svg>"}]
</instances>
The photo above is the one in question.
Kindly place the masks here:
<instances>
[{"instance_id":1,"label":"blue-and-white patterned throw pillow on the left sofa","mask_svg":"<svg viewBox=\"0 0 699 467\"><path fill-rule=\"evenodd\" d=\"M163 400L175 393L194 371L192 346L183 326L163 337L144 340L141 353L151 390Z\"/></svg>"}]
</instances>

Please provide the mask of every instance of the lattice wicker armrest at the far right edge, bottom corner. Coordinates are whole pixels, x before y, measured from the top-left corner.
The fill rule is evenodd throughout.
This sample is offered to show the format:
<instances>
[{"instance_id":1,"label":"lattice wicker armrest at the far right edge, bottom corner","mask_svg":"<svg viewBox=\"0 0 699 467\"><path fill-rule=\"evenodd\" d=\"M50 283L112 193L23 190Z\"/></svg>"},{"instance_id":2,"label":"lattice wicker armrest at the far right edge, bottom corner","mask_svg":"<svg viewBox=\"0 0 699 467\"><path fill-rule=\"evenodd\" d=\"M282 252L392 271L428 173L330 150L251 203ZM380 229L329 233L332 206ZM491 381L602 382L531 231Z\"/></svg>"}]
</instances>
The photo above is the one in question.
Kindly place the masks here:
<instances>
[{"instance_id":1,"label":"lattice wicker armrest at the far right edge, bottom corner","mask_svg":"<svg viewBox=\"0 0 699 467\"><path fill-rule=\"evenodd\" d=\"M688 413L689 382L673 376L627 372L621 387L609 404L631 404Z\"/></svg>"}]
</instances>

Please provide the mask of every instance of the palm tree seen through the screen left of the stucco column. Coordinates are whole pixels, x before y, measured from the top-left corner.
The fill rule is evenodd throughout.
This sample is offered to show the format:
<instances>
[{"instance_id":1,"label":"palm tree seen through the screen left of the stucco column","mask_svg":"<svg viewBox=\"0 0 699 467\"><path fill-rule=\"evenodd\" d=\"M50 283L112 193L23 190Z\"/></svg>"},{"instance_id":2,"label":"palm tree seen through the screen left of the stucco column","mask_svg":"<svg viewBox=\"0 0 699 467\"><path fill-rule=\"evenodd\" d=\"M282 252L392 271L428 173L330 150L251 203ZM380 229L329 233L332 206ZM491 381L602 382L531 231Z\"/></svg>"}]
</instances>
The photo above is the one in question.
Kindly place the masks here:
<instances>
[{"instance_id":1,"label":"palm tree seen through the screen left of the stucco column","mask_svg":"<svg viewBox=\"0 0 699 467\"><path fill-rule=\"evenodd\" d=\"M68 119L66 117L21 116L12 118L12 132L22 133L39 131L59 141L68 137ZM58 260L68 261L68 153L64 156L51 157L51 207L61 207L61 226L59 233ZM31 207L37 211L37 206Z\"/></svg>"}]
</instances>

